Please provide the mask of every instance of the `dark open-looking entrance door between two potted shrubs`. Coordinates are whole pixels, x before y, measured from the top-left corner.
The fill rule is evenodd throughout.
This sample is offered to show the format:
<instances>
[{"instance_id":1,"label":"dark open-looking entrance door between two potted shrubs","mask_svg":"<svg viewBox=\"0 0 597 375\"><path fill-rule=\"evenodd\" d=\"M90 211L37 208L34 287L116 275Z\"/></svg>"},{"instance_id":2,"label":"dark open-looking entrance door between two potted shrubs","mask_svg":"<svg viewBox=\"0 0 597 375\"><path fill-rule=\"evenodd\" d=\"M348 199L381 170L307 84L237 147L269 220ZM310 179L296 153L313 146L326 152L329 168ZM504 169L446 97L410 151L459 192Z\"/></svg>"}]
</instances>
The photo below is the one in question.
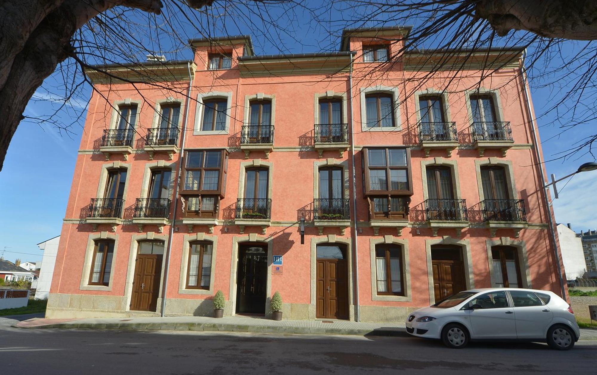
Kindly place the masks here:
<instances>
[{"instance_id":1,"label":"dark open-looking entrance door between two potted shrubs","mask_svg":"<svg viewBox=\"0 0 597 375\"><path fill-rule=\"evenodd\" d=\"M265 313L267 248L241 246L238 254L236 313Z\"/></svg>"}]
</instances>

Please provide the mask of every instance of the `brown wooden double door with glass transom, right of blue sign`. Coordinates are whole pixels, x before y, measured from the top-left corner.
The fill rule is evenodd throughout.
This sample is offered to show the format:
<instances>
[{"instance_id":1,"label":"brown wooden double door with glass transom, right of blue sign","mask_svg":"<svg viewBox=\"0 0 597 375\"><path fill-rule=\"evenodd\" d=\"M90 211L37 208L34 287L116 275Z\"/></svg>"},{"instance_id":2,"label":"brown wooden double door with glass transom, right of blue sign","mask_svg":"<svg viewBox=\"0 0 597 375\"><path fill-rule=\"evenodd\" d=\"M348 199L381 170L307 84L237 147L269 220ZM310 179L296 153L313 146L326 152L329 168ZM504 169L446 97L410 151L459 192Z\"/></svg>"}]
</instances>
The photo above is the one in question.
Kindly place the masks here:
<instances>
[{"instance_id":1,"label":"brown wooden double door with glass transom, right of blue sign","mask_svg":"<svg viewBox=\"0 0 597 375\"><path fill-rule=\"evenodd\" d=\"M348 263L346 250L337 245L318 245L316 317L348 319Z\"/></svg>"}]
</instances>

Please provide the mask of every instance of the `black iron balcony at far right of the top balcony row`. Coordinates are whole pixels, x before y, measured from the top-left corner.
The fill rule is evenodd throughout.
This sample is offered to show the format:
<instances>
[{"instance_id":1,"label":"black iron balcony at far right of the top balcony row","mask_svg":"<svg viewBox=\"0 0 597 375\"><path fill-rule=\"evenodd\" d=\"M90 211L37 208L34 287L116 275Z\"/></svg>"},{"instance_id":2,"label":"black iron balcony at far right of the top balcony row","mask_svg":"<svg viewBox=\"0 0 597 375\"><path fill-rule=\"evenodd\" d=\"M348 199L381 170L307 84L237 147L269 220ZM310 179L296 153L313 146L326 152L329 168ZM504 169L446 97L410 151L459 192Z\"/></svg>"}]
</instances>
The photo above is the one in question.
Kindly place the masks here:
<instances>
[{"instance_id":1,"label":"black iron balcony at far right of the top balcony row","mask_svg":"<svg viewBox=\"0 0 597 375\"><path fill-rule=\"evenodd\" d=\"M506 156L507 150L514 144L510 122L473 122L470 135L473 147L479 150L479 156L483 156L486 149L500 149L501 155Z\"/></svg>"}]
</instances>

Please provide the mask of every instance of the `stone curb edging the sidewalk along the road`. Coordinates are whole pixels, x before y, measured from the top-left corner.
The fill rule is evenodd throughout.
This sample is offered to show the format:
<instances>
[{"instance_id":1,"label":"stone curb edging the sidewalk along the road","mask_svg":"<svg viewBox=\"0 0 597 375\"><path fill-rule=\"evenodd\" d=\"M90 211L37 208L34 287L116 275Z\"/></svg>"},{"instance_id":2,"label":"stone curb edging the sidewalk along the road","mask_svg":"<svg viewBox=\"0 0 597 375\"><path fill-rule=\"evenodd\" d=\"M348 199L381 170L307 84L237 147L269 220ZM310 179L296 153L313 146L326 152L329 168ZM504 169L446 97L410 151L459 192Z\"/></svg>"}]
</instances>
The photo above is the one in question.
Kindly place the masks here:
<instances>
[{"instance_id":1,"label":"stone curb edging the sidewalk along the road","mask_svg":"<svg viewBox=\"0 0 597 375\"><path fill-rule=\"evenodd\" d=\"M246 324L217 324L217 323L59 323L40 325L38 327L15 328L57 328L62 330L84 329L84 330L126 330L126 331L217 331L217 332L251 332L251 333L291 333L291 334L336 334L356 336L409 336L405 328L362 330L355 328L312 328L312 327L276 327L273 325L246 325Z\"/></svg>"}]
</instances>

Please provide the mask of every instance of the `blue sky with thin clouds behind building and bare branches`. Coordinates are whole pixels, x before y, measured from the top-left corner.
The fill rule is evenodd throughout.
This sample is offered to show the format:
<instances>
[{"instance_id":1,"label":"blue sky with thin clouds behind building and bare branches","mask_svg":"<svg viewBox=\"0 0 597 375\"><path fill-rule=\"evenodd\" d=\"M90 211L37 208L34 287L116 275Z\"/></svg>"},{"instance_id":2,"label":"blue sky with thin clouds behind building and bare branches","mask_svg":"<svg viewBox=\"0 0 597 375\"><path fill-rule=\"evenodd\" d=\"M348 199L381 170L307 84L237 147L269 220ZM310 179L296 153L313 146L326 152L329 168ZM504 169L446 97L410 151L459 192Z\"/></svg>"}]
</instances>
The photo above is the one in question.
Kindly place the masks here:
<instances>
[{"instance_id":1,"label":"blue sky with thin clouds behind building and bare branches","mask_svg":"<svg viewBox=\"0 0 597 375\"><path fill-rule=\"evenodd\" d=\"M247 26L239 27L239 30L228 30L228 33L232 35L239 31L251 33ZM319 42L314 40L314 33L323 32L324 30L312 25L295 28L294 40L288 35L282 35L285 39L283 48L267 39L263 40L261 34L252 34L258 54L306 53L318 51L318 45L322 46L321 50L336 48L339 42L337 36L328 34ZM571 44L563 52L572 53L573 49L574 45ZM190 51L185 50L182 54L183 56L177 54L176 58L189 59L191 55ZM531 95L537 114L549 108L554 95L557 97L550 86L531 85ZM82 97L89 96L90 89L85 88ZM36 97L39 100L29 104L26 115L48 115L56 107L56 102L53 102L53 97L48 93L38 90ZM73 100L69 106L77 108L85 106L85 103ZM63 111L57 119L69 123L72 121L72 113L72 110ZM579 125L563 136L557 136L561 129L556 123L555 113L542 116L538 124L546 159L555 158L577 140L597 132L595 123L592 122ZM4 168L0 172L0 254L4 251L5 259L13 262L17 258L30 262L39 261L42 251L36 244L60 234L82 127L75 124L71 131L73 134L69 137L51 124L23 122L19 125L8 148ZM594 158L585 154L572 160L547 162L547 173L565 176L587 161L594 161ZM597 203L593 190L596 180L597 171L593 171L578 174L568 183L564 181L558 184L561 198L554 202L558 222L571 223L577 231L597 228L597 216L593 211Z\"/></svg>"}]
</instances>

